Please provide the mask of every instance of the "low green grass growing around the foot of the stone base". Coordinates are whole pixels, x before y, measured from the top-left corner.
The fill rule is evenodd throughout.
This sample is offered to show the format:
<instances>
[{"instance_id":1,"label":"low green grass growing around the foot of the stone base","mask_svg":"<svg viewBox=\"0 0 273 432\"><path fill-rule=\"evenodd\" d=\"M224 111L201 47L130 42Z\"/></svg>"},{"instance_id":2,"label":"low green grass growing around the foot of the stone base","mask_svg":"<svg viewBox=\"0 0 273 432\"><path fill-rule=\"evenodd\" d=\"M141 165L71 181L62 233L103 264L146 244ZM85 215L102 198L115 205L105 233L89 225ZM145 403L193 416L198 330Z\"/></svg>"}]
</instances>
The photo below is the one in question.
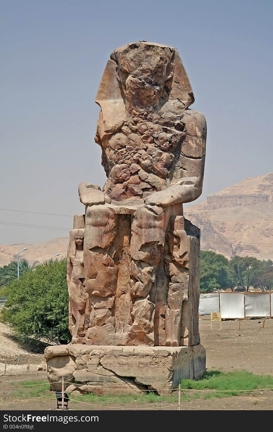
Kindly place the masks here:
<instances>
[{"instance_id":1,"label":"low green grass growing around the foot of the stone base","mask_svg":"<svg viewBox=\"0 0 273 432\"><path fill-rule=\"evenodd\" d=\"M44 384L44 385L35 385ZM182 379L180 381L181 388L186 389L181 391L181 403L203 399L213 400L214 398L232 397L238 394L249 394L250 390L259 390L262 388L273 388L273 377L270 375L256 375L246 371L221 372L220 370L210 370L205 372L204 376L199 381L191 379ZM50 391L50 386L46 380L42 381L20 381L11 383L23 387L11 388L5 400L23 400L38 398L45 400L54 398L55 392ZM24 387L25 386L25 387ZM195 390L195 391L189 391ZM204 390L211 390L206 392ZM214 391L213 391L214 390ZM220 390L221 392L216 392ZM227 391L229 390L229 391ZM239 390L247 390L240 392ZM252 393L255 394L254 392ZM144 392L143 394L121 394L121 395L104 395L98 396L93 393L83 394L81 396L71 395L71 398L78 402L93 403L97 405L107 406L109 404L122 406L126 403L149 404L149 403L177 403L178 392L173 392L172 395L158 396L155 392ZM75 403L71 401L71 403ZM95 408L95 407L94 407ZM85 406L87 409L87 405ZM90 407L92 409L92 407Z\"/></svg>"}]
</instances>

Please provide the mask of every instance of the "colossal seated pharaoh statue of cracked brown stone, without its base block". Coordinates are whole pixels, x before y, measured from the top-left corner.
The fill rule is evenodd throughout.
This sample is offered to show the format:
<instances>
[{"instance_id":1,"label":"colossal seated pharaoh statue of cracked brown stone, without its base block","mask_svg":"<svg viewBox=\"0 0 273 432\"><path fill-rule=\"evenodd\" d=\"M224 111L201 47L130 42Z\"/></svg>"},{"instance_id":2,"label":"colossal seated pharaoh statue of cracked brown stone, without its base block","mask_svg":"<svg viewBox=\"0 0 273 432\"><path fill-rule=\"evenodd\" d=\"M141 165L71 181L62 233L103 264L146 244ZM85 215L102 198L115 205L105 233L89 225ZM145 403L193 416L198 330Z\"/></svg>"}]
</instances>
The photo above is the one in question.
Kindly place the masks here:
<instances>
[{"instance_id":1,"label":"colossal seated pharaoh statue of cracked brown stone, without its base block","mask_svg":"<svg viewBox=\"0 0 273 432\"><path fill-rule=\"evenodd\" d=\"M200 230L183 216L204 174L206 121L193 102L175 48L140 41L110 55L95 136L107 181L79 185L84 226L69 242L72 343L200 343Z\"/></svg>"}]
</instances>

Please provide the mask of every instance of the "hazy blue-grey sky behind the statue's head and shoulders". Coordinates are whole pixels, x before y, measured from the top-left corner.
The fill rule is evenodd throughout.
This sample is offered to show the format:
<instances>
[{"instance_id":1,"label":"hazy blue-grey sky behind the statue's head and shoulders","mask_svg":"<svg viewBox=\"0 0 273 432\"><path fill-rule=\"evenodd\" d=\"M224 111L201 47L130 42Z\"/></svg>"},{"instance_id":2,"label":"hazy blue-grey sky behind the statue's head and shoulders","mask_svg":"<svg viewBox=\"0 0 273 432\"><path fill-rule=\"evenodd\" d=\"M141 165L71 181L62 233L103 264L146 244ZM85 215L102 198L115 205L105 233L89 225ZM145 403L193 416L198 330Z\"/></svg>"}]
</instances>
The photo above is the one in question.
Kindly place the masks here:
<instances>
[{"instance_id":1,"label":"hazy blue-grey sky behind the statue's head and shoulders","mask_svg":"<svg viewBox=\"0 0 273 432\"><path fill-rule=\"evenodd\" d=\"M104 184L94 103L113 49L174 46L207 118L200 200L273 171L272 1L2 0L0 207L74 215L82 181ZM0 210L1 222L71 228L72 219ZM0 224L0 244L68 232Z\"/></svg>"}]
</instances>

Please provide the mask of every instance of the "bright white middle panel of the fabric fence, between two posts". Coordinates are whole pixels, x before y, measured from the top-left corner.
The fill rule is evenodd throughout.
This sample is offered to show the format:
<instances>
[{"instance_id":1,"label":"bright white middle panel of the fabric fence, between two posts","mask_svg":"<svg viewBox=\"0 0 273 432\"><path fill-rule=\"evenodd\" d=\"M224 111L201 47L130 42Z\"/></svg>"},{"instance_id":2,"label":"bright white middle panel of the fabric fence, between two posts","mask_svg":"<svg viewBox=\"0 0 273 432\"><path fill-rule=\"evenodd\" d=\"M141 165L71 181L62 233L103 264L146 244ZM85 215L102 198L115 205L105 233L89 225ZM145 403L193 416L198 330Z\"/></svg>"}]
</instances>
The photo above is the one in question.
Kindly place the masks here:
<instances>
[{"instance_id":1,"label":"bright white middle panel of the fabric fence, between two posts","mask_svg":"<svg viewBox=\"0 0 273 432\"><path fill-rule=\"evenodd\" d=\"M244 294L220 292L220 312L222 318L245 318Z\"/></svg>"}]
</instances>

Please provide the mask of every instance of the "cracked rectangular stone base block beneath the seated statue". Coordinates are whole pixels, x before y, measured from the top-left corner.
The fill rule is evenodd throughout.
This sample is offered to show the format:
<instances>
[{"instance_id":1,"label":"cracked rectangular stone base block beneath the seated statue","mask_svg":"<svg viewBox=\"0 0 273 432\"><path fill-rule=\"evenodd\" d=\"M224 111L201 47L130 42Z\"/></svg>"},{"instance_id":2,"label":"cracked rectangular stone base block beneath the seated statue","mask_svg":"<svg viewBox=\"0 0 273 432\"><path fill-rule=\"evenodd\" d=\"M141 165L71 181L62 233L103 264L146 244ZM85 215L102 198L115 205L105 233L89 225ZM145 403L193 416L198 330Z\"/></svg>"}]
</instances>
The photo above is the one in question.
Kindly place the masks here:
<instances>
[{"instance_id":1,"label":"cracked rectangular stone base block beneath the seated statue","mask_svg":"<svg viewBox=\"0 0 273 432\"><path fill-rule=\"evenodd\" d=\"M169 394L181 378L200 379L206 350L195 346L59 345L45 349L50 387L95 394ZM74 393L75 394L75 393Z\"/></svg>"}]
</instances>

